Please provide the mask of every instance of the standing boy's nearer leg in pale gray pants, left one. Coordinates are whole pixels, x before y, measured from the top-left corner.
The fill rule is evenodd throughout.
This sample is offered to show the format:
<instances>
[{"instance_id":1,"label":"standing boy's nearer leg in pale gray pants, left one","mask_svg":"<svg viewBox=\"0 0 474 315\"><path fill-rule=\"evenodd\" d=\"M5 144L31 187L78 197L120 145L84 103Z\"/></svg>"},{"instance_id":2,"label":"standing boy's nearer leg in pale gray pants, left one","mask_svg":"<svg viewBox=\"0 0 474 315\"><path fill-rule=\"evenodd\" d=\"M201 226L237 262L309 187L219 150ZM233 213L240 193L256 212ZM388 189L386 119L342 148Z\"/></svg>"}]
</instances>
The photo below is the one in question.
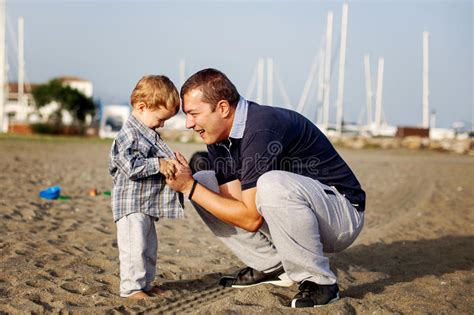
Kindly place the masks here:
<instances>
[{"instance_id":1,"label":"standing boy's nearer leg in pale gray pants, left one","mask_svg":"<svg viewBox=\"0 0 474 315\"><path fill-rule=\"evenodd\" d=\"M147 285L146 246L153 223L150 216L131 213L117 221L120 259L120 296L130 297Z\"/></svg>"}]
</instances>

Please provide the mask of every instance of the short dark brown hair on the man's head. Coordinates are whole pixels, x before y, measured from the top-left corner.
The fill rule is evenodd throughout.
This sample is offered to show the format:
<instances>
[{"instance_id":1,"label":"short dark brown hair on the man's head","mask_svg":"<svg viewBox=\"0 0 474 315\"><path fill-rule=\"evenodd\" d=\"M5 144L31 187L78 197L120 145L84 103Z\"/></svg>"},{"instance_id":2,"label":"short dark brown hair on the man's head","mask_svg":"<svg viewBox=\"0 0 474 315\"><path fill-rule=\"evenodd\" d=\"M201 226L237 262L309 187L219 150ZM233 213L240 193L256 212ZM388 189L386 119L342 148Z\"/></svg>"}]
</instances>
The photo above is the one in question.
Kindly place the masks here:
<instances>
[{"instance_id":1,"label":"short dark brown hair on the man's head","mask_svg":"<svg viewBox=\"0 0 474 315\"><path fill-rule=\"evenodd\" d=\"M237 107L240 99L235 85L224 73L216 69L204 69L189 77L181 87L181 99L184 99L184 95L194 89L199 89L202 92L202 101L211 104L213 111L221 100L226 100L230 106Z\"/></svg>"}]
</instances>

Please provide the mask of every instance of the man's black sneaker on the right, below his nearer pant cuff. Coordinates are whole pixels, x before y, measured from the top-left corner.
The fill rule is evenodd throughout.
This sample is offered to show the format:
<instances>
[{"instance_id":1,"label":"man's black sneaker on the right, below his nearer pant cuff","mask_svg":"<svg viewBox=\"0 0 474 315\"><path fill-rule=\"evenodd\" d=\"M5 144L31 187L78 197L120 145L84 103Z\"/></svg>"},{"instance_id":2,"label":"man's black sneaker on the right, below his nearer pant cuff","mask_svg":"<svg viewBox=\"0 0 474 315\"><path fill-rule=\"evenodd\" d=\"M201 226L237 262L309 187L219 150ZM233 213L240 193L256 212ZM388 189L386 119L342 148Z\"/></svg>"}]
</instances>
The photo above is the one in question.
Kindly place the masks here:
<instances>
[{"instance_id":1,"label":"man's black sneaker on the right, below his nearer pant cuff","mask_svg":"<svg viewBox=\"0 0 474 315\"><path fill-rule=\"evenodd\" d=\"M291 307L318 307L339 300L339 287L337 283L330 285L317 284L304 281L300 292L291 300Z\"/></svg>"}]
</instances>

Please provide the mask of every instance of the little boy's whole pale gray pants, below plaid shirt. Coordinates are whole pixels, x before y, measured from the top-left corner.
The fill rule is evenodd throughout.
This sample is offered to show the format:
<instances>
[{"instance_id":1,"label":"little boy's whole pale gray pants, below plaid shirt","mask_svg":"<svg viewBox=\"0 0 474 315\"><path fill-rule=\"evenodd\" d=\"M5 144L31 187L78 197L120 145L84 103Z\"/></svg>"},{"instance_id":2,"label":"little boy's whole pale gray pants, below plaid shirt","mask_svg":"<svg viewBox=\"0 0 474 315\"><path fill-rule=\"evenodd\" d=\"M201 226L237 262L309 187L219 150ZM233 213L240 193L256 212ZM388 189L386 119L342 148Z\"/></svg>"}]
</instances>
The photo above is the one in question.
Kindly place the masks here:
<instances>
[{"instance_id":1,"label":"little boy's whole pale gray pants, below plaid shirt","mask_svg":"<svg viewBox=\"0 0 474 315\"><path fill-rule=\"evenodd\" d=\"M120 296L149 291L155 279L158 242L155 218L131 213L117 221L120 259Z\"/></svg>"}]
</instances>

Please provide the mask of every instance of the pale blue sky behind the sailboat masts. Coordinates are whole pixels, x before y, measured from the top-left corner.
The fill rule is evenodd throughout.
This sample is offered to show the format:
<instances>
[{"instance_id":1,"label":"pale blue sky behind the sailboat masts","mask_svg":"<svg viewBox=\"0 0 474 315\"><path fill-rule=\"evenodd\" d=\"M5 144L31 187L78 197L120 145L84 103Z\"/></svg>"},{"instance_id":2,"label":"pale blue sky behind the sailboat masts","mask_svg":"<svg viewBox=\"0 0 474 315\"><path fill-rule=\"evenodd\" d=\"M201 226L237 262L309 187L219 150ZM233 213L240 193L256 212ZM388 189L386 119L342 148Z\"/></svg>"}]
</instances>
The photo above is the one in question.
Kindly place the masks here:
<instances>
[{"instance_id":1,"label":"pale blue sky behind the sailboat masts","mask_svg":"<svg viewBox=\"0 0 474 315\"><path fill-rule=\"evenodd\" d=\"M225 72L245 94L257 59L272 57L294 105L334 12L333 54L341 1L8 1L9 78L17 79L16 28L25 18L26 74L41 83L74 75L94 84L104 104L127 103L144 74L179 85L179 62L190 75ZM473 114L472 1L348 1L344 119L365 111L363 56L385 58L383 108L389 124L421 125L422 32L430 32L430 107L437 125L470 124ZM13 36L12 36L13 35ZM335 57L338 56L336 53ZM331 103L336 100L334 61ZM275 85L274 104L283 98ZM308 103L305 114L315 115ZM335 108L331 107L331 121Z\"/></svg>"}]
</instances>

